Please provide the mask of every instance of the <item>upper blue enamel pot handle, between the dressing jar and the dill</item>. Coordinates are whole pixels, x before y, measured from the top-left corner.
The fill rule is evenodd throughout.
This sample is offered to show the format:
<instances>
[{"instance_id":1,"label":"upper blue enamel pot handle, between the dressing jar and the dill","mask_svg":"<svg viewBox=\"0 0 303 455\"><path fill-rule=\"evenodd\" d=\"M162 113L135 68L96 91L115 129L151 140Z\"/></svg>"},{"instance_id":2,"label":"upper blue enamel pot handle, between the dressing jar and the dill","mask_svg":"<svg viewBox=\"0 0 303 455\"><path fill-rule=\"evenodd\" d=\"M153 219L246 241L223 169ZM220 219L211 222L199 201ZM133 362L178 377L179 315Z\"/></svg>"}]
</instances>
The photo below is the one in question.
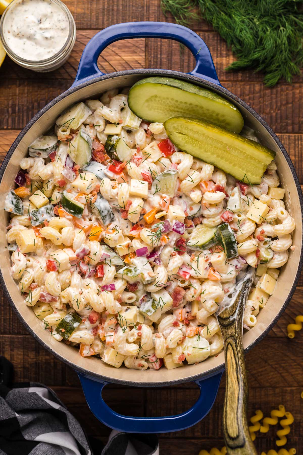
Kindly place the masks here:
<instances>
[{"instance_id":1,"label":"upper blue enamel pot handle, between the dressing jar and the dill","mask_svg":"<svg viewBox=\"0 0 303 455\"><path fill-rule=\"evenodd\" d=\"M149 37L169 38L187 46L196 59L194 70L188 74L202 77L220 85L209 48L193 30L183 25L168 22L126 22L110 25L89 40L84 47L72 87L104 75L97 66L97 60L109 44L129 38Z\"/></svg>"}]
</instances>

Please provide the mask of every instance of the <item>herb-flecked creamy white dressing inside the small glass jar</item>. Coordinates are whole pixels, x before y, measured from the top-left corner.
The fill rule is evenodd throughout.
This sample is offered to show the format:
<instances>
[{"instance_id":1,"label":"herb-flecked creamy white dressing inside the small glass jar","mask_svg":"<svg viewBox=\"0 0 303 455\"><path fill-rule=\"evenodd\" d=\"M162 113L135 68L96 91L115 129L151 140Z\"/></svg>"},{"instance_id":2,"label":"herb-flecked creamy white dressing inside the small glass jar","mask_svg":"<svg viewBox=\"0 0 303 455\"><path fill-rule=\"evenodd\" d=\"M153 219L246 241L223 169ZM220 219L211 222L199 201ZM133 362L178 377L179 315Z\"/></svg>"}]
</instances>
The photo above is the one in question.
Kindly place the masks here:
<instances>
[{"instance_id":1,"label":"herb-flecked creamy white dressing inside the small glass jar","mask_svg":"<svg viewBox=\"0 0 303 455\"><path fill-rule=\"evenodd\" d=\"M20 0L6 12L3 33L17 56L41 61L62 49L70 25L64 10L52 0Z\"/></svg>"}]
</instances>

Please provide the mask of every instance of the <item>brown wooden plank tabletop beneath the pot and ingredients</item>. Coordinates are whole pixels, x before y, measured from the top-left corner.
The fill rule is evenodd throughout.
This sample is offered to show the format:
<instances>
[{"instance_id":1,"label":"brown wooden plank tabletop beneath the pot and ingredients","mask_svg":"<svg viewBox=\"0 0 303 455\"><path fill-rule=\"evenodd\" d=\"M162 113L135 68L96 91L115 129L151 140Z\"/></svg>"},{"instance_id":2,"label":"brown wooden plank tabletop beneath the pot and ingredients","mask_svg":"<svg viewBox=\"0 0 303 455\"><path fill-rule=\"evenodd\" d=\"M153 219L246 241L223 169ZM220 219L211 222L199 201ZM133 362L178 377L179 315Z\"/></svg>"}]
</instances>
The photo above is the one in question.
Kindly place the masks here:
<instances>
[{"instance_id":1,"label":"brown wooden plank tabletop beneath the pot and ingredients","mask_svg":"<svg viewBox=\"0 0 303 455\"><path fill-rule=\"evenodd\" d=\"M20 130L45 104L68 89L75 77L85 44L100 29L114 23L160 20L165 18L159 0L65 0L74 15L77 40L69 60L59 70L39 75L15 65L8 57L0 68L0 160L2 162ZM272 89L262 83L262 75L252 71L226 72L234 57L226 43L211 26L201 20L192 27L205 40L212 53L222 85L248 102L273 128L286 147L303 184L303 97L302 79L293 85L281 81ZM124 40L110 45L99 57L104 72L132 68L164 68L190 71L194 57L180 51L177 43L159 39ZM295 271L294 271L295 273ZM287 448L303 454L303 331L293 340L287 338L287 325L297 314L303 314L303 279L288 308L269 334L246 355L249 384L248 416L261 409L270 415L273 408L284 404L294 416ZM110 430L90 412L75 372L59 362L27 333L8 302L0 296L0 354L15 366L16 381L36 381L55 389L60 399L83 425L88 435L105 442ZM209 415L192 428L160 435L160 453L194 455L214 445L221 448L223 379L219 394ZM171 415L188 409L197 399L194 384L161 389L134 389L107 386L107 403L121 413L133 415ZM131 411L129 411L131 410ZM257 433L258 453L277 449L275 430Z\"/></svg>"}]
</instances>

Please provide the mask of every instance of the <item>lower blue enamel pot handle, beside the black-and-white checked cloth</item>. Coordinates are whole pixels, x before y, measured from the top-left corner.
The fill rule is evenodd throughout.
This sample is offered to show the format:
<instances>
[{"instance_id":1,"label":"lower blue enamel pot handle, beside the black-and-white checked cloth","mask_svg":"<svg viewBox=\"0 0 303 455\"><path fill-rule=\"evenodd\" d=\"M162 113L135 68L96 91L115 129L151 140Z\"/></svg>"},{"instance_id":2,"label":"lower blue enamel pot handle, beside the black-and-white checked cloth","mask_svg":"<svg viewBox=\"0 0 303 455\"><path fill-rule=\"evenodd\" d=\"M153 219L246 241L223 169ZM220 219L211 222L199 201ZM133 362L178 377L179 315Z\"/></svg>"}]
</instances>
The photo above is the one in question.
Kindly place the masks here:
<instances>
[{"instance_id":1,"label":"lower blue enamel pot handle, beside the black-and-white checked cloth","mask_svg":"<svg viewBox=\"0 0 303 455\"><path fill-rule=\"evenodd\" d=\"M217 396L223 371L206 379L197 379L200 395L194 406L182 414L165 417L131 417L118 414L102 398L108 382L99 382L78 373L89 409L104 425L126 433L167 433L189 428L202 420L211 410ZM155 393L156 390L155 390Z\"/></svg>"}]
</instances>

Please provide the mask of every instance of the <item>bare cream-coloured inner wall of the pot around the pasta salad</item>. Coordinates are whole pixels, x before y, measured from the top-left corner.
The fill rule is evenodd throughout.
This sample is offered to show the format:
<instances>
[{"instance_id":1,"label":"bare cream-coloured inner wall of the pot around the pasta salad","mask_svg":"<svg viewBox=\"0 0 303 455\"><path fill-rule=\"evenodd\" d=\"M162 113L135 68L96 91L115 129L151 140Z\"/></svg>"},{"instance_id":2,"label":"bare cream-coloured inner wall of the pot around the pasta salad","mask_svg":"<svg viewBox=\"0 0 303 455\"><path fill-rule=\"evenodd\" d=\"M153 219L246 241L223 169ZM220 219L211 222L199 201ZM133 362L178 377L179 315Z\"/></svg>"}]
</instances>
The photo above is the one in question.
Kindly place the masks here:
<instances>
[{"instance_id":1,"label":"bare cream-coloured inner wall of the pot around the pasta salad","mask_svg":"<svg viewBox=\"0 0 303 455\"><path fill-rule=\"evenodd\" d=\"M151 76L149 72L147 76ZM157 73L159 76L159 72ZM43 324L41 321L35 317L34 312L25 305L23 298L20 295L19 288L17 284L10 276L10 254L6 248L6 226L7 226L7 216L4 212L4 202L5 196L8 191L14 187L14 178L17 172L19 171L20 160L26 156L28 145L38 136L44 134L54 123L55 119L59 114L64 111L68 106L74 104L76 101L84 100L87 98L92 98L96 95L99 95L101 92L109 90L114 87L124 87L131 86L135 81L141 79L144 75L126 75L126 76L115 76L104 81L95 82L89 86L86 86L69 96L65 97L59 101L55 106L52 106L43 116L40 117L38 121L30 128L29 131L20 141L15 152L13 153L10 161L5 169L4 176L0 183L0 207L2 214L5 213L5 216L1 217L1 238L0 238L0 269L5 281L6 288L10 293L10 297L15 303L16 308L18 309L20 315L27 322L30 328L35 332L35 334L40 338L40 340L50 346L57 354L61 356L63 360L68 360L69 363L75 365L75 368L82 368L87 370L87 374L92 373L92 375L102 375L113 380L118 381L128 381L134 383L170 383L176 380L183 380L197 376L207 374L211 369L219 367L224 364L224 353L219 354L218 357L210 357L206 361L198 365L187 365L183 368L177 368L173 370L167 370L161 368L159 371L147 370L147 371L137 371L126 369L121 367L116 369L107 364L104 364L99 358L89 357L83 358L78 354L78 350L71 348L65 343L58 343L53 339L48 331L44 330ZM146 77L146 76L145 76ZM202 84L202 83L201 83ZM249 102L249 100L245 100ZM294 241L293 244L296 246L295 251L291 252L289 255L288 263L281 270L280 276L278 278L278 283L274 294L269 298L267 304L263 309L260 310L258 314L258 323L253 329L248 332L245 331L244 334L244 347L247 348L255 342L256 339L267 329L268 325L276 317L277 313L283 307L285 300L288 297L290 289L293 286L294 279L298 270L298 265L300 261L300 252L302 244L302 218L300 210L300 201L298 197L298 191L293 179L292 172L288 167L288 163L283 156L282 152L279 150L277 144L270 136L268 131L250 114L248 111L244 110L242 106L238 106L242 111L245 123L249 126L252 126L253 129L257 132L257 136L262 142L263 145L271 148L277 153L276 162L278 166L278 174L281 180L283 187L285 188L285 199L287 210L290 212L291 216L295 219L296 229L294 231Z\"/></svg>"}]
</instances>

